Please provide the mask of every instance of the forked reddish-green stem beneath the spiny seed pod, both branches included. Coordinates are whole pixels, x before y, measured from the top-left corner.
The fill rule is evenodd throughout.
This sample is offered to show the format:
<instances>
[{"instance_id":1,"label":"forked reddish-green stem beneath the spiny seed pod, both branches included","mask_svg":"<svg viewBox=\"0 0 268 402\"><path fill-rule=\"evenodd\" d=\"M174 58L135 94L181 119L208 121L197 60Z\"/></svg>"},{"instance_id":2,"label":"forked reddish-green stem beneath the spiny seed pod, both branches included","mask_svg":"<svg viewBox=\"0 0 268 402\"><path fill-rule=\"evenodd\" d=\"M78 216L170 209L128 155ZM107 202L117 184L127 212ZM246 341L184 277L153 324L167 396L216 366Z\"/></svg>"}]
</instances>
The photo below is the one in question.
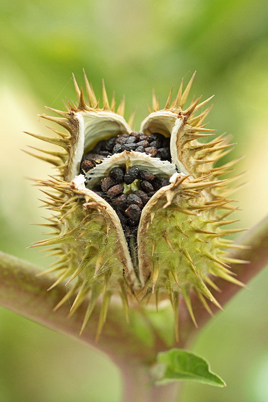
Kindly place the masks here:
<instances>
[{"instance_id":1,"label":"forked reddish-green stem beneath the spiny seed pod, both branches included","mask_svg":"<svg viewBox=\"0 0 268 402\"><path fill-rule=\"evenodd\" d=\"M248 231L240 239L239 243L251 247L245 250L234 250L230 252L230 256L249 260L250 263L232 264L232 270L237 274L237 279L246 283L268 263L268 217ZM51 285L51 279L47 276L37 277L36 274L41 270L40 267L29 262L0 252L0 304L39 324L68 335L84 344L98 347L98 349L107 353L122 370L126 383L126 392L128 393L125 400L129 402L134 402L134 400L139 400L140 402L143 400L154 400L155 402L172 401L173 396L171 394L174 394L172 386L151 386L147 388L144 384L149 378L149 365L145 366L145 364L154 362L156 354L167 349L156 331L152 331L152 328L148 325L148 320L144 320L142 323L139 322L139 325L152 332L152 341L149 345L147 339L143 339L145 337L142 338L139 335L139 330L135 332L135 325L126 323L120 307L114 305L113 314L108 314L103 333L99 343L96 344L95 331L99 307L97 306L92 319L81 336L79 336L81 322L87 307L86 302L69 319L66 319L69 312L68 304L53 312L53 307L66 294L66 287L59 285L47 292L47 288ZM217 299L222 306L240 290L238 286L220 278L217 278L215 283L222 289L222 292L217 295ZM194 294L192 295L192 305L198 317L200 329L211 317L200 306L200 302ZM212 307L212 310L216 312L216 308ZM138 314L138 312L136 313ZM196 332L197 330L191 322L187 309L184 308L182 303L180 307L181 339L178 344L173 346L185 347L186 344L188 345L192 341ZM132 377L137 380L134 386L135 389L133 388ZM138 392L137 394L135 394L136 391Z\"/></svg>"}]
</instances>

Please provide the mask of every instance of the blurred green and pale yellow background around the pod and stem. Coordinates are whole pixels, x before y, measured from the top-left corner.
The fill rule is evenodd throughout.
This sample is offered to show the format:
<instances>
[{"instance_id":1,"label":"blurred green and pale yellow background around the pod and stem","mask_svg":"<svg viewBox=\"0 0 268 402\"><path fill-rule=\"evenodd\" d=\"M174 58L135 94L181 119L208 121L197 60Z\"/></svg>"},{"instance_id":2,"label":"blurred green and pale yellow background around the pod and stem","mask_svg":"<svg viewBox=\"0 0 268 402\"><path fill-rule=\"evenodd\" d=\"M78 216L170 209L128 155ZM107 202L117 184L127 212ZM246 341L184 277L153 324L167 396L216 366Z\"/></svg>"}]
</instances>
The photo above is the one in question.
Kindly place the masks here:
<instances>
[{"instance_id":1,"label":"blurred green and pale yellow background around the pod and stem","mask_svg":"<svg viewBox=\"0 0 268 402\"><path fill-rule=\"evenodd\" d=\"M25 249L40 240L40 191L25 176L53 174L21 151L40 146L21 130L47 134L37 114L75 99L71 73L82 68L101 93L101 79L126 115L137 106L135 129L147 115L151 90L162 106L197 70L192 95L215 93L210 128L231 133L245 155L237 171L248 184L237 192L250 227L267 213L267 3L260 0L14 0L2 5L0 248L44 266L42 253ZM226 158L227 160L227 158ZM41 196L42 198L42 196ZM267 271L242 290L202 331L194 351L227 382L225 389L185 383L183 402L268 400ZM119 402L117 368L90 350L15 314L0 310L0 400L3 402Z\"/></svg>"}]
</instances>

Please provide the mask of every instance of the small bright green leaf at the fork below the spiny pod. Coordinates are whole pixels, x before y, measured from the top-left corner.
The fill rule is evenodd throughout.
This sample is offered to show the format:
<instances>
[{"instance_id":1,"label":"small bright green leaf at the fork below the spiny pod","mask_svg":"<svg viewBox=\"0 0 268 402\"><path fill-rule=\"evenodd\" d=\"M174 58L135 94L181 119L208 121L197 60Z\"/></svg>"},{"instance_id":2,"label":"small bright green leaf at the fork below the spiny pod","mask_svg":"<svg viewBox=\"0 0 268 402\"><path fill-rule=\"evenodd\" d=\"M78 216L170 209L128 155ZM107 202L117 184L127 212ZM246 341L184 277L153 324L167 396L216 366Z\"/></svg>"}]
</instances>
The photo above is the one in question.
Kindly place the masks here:
<instances>
[{"instance_id":1,"label":"small bright green leaf at the fork below the spiny pod","mask_svg":"<svg viewBox=\"0 0 268 402\"><path fill-rule=\"evenodd\" d=\"M170 349L157 355L154 371L157 384L176 380L192 380L205 384L226 386L217 374L210 371L207 360L183 349Z\"/></svg>"}]
</instances>

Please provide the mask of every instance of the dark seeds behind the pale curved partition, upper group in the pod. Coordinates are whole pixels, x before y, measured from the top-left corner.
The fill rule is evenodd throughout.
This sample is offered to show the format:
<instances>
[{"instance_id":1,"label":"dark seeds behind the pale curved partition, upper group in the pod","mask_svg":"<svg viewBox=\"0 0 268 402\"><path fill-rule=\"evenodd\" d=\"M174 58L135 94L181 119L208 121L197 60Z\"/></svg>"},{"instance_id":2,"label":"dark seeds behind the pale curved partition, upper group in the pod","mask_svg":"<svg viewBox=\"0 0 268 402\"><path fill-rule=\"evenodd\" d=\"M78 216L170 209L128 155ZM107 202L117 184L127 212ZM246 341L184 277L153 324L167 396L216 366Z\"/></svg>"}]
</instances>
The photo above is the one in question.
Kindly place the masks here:
<instances>
[{"instance_id":1,"label":"dark seeds behind the pale curved partition, upper group in the pod","mask_svg":"<svg viewBox=\"0 0 268 402\"><path fill-rule=\"evenodd\" d=\"M171 162L169 145L170 139L159 133L145 135L144 133L133 131L130 134L118 135L98 142L93 150L84 156L81 170L86 173L96 164L101 163L107 156L123 151L145 152L152 157Z\"/></svg>"}]
</instances>

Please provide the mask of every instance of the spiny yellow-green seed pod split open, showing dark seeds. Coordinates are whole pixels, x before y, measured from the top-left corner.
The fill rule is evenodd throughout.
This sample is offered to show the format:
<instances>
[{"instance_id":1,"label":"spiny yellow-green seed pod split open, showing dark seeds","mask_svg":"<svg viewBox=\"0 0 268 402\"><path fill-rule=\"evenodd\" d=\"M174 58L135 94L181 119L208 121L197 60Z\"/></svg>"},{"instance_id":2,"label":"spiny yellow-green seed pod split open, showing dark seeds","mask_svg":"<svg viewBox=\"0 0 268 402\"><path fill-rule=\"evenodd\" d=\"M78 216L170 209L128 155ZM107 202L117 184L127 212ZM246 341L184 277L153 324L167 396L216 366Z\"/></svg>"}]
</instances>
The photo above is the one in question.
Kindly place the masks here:
<instances>
[{"instance_id":1,"label":"spiny yellow-green seed pod split open, showing dark seeds","mask_svg":"<svg viewBox=\"0 0 268 402\"><path fill-rule=\"evenodd\" d=\"M121 297L126 316L130 305L169 298L175 317L181 296L196 324L191 289L210 312L206 298L221 308L209 289L219 290L213 277L243 285L228 265L241 261L224 251L239 247L225 237L239 230L221 229L235 222L225 218L236 208L230 205L228 180L218 179L236 161L214 167L233 144L223 135L198 141L213 130L203 125L210 108L199 114L211 98L193 100L184 110L194 75L184 92L181 83L172 103L170 91L162 110L153 95L153 112L140 132L133 132L133 116L129 123L123 118L124 100L115 112L114 96L110 106L103 83L101 108L84 74L88 103L74 79L78 105L68 103L66 112L47 108L60 117L41 115L66 132L27 133L63 149L34 155L55 165L59 175L40 181L52 189L45 192L46 205L56 215L46 225L56 235L33 247L52 246L58 257L45 271L56 277L50 289L68 285L55 310L72 295L70 315L88 300L81 331L100 299L97 338L112 295Z\"/></svg>"}]
</instances>

